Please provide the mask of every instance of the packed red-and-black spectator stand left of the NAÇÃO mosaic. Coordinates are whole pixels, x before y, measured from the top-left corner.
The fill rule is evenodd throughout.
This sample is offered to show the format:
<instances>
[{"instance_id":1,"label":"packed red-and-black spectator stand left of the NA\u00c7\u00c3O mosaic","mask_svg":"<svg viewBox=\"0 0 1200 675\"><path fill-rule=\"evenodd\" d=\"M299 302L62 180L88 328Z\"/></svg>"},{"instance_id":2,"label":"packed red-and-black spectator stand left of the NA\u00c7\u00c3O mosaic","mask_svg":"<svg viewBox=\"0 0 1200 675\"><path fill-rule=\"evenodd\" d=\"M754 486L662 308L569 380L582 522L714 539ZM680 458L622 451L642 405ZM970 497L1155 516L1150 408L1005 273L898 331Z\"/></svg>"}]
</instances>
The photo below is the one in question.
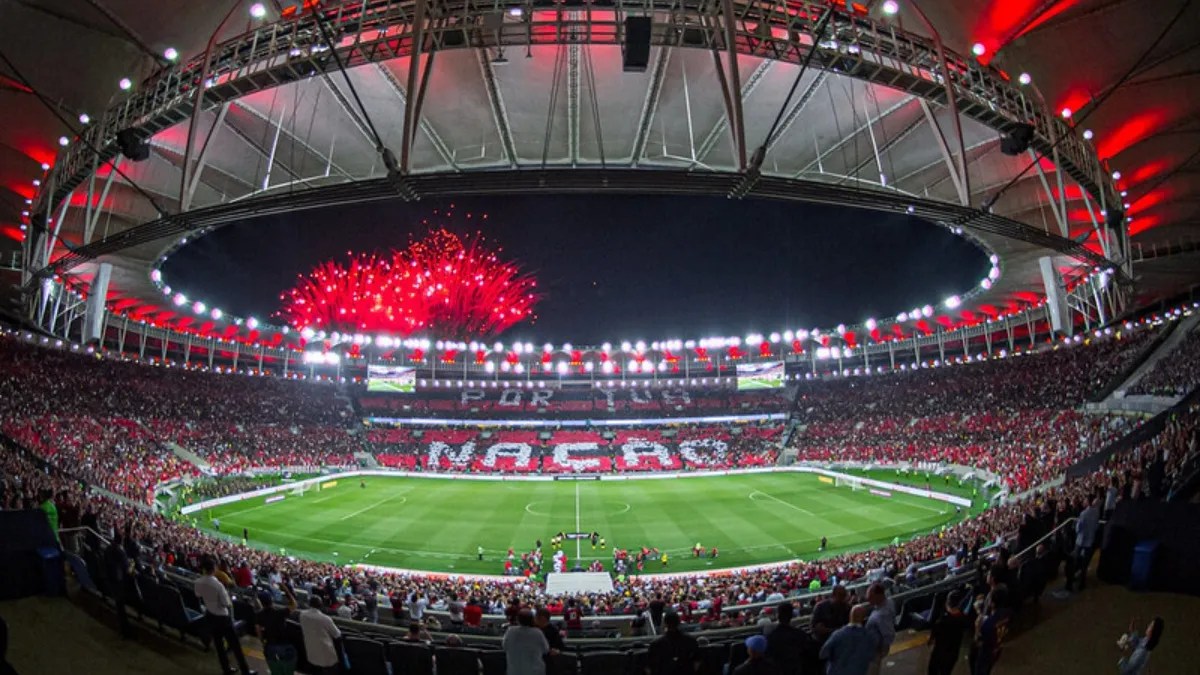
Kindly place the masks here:
<instances>
[{"instance_id":1,"label":"packed red-and-black spectator stand left of the NA\u00c7\u00c3O mosaic","mask_svg":"<svg viewBox=\"0 0 1200 675\"><path fill-rule=\"evenodd\" d=\"M196 430L214 441L199 454L223 472L349 464L349 407L336 396L332 386L146 366L0 338L0 431L143 503L156 484L198 473L170 447Z\"/></svg>"}]
</instances>

